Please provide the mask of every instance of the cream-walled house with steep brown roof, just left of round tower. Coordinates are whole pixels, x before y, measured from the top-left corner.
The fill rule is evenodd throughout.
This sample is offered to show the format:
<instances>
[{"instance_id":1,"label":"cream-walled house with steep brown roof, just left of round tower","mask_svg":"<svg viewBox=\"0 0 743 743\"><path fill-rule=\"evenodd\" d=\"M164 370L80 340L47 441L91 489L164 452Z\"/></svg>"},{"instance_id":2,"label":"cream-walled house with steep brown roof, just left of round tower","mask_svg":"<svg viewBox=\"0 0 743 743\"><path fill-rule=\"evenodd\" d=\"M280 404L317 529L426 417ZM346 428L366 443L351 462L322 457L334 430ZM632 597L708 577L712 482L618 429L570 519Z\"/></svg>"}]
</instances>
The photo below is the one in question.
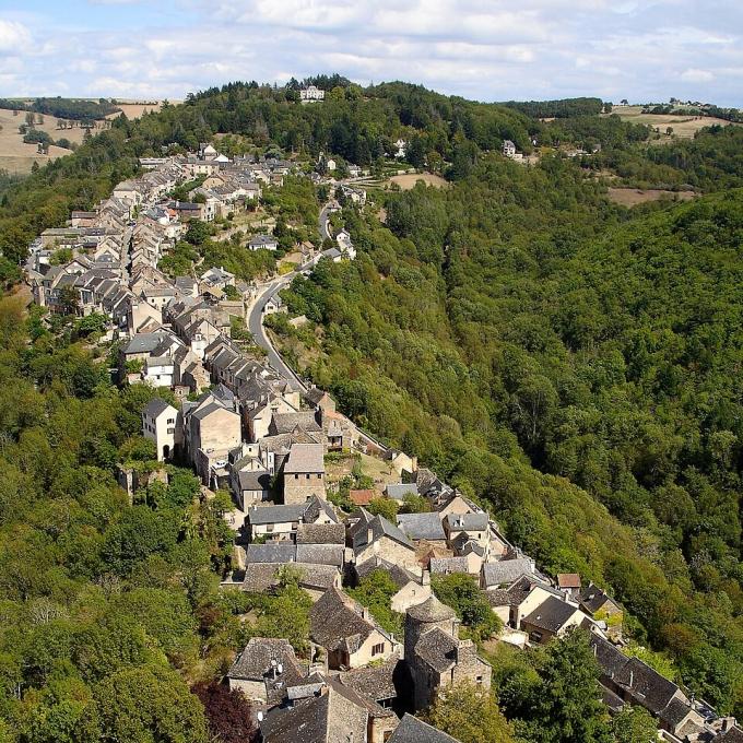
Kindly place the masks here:
<instances>
[{"instance_id":1,"label":"cream-walled house with steep brown roof, just left of round tower","mask_svg":"<svg viewBox=\"0 0 743 743\"><path fill-rule=\"evenodd\" d=\"M355 669L371 661L386 661L401 649L365 606L337 588L327 591L310 609L309 620L312 644L325 648L331 669Z\"/></svg>"}]
</instances>

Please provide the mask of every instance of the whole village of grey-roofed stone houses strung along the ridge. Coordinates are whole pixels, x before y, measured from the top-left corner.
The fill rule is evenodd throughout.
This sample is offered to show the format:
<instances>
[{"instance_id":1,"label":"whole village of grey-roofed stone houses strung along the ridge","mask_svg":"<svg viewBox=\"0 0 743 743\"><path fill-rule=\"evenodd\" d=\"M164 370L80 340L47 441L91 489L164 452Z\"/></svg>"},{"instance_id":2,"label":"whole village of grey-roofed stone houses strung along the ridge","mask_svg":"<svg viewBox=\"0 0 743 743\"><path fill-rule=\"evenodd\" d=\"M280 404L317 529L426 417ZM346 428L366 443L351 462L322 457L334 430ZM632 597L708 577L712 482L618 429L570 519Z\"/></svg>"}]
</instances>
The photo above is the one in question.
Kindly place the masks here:
<instances>
[{"instance_id":1,"label":"whole village of grey-roofed stone houses strung along the ridge","mask_svg":"<svg viewBox=\"0 0 743 743\"><path fill-rule=\"evenodd\" d=\"M303 99L319 101L320 93L303 91ZM511 142L504 154L517 156ZM644 707L669 742L743 740L733 718L718 717L622 651L623 608L602 587L577 574L545 575L483 506L415 457L359 429L327 391L281 358L263 319L286 311L281 291L297 274L320 260L356 258L352 235L334 229L330 215L341 211L341 201L366 202L356 180L361 168L349 167L351 177L335 180L334 162L326 157L323 174L305 176L330 192L320 212L320 245L298 246L299 264L257 283L221 266L202 264L199 275L175 279L157 267L193 221L213 222L259 203L264 188L299 175L297 163L229 158L204 143L187 156L142 158L140 165L142 175L118 184L95 209L73 212L69 226L39 235L26 278L34 302L51 315L73 307L81 317L110 319L106 337L120 341L120 384L172 391L176 404L157 397L146 405L142 434L162 462L192 467L207 493L229 492L236 547L223 590L271 592L288 571L311 598L308 657L285 639L253 637L226 674L229 687L251 701L267 743L455 740L416 713L465 680L491 686L490 663L472 639L460 637L460 618L432 589L432 579L456 574L476 581L498 617L497 642L528 651L576 627L589 633L612 712L627 704ZM196 177L203 178L189 201L173 199L176 187ZM269 228L246 246L276 248ZM233 338L235 318L262 353ZM363 486L347 486L353 473L361 473L355 480ZM121 469L130 495L139 476ZM380 509L380 502L394 508ZM390 610L404 617L401 636L345 590L375 571L398 589Z\"/></svg>"}]
</instances>

